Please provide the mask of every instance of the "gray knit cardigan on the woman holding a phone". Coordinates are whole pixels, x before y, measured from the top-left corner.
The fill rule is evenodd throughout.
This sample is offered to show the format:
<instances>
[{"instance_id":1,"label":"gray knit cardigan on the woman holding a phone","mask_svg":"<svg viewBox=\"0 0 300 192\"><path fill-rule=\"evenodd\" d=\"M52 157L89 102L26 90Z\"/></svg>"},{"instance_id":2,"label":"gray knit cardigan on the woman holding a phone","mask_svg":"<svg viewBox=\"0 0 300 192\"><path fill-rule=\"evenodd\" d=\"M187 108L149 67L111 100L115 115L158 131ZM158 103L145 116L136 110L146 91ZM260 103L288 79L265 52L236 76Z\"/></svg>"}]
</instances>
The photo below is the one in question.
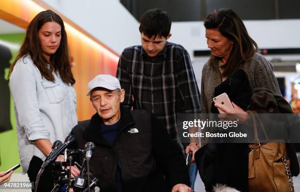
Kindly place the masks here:
<instances>
[{"instance_id":1,"label":"gray knit cardigan on the woman holding a phone","mask_svg":"<svg viewBox=\"0 0 300 192\"><path fill-rule=\"evenodd\" d=\"M201 113L211 113L211 103L215 87L222 83L219 61L211 59L212 64L205 63L201 79ZM273 66L263 55L255 54L250 61L240 65L239 69L246 72L251 89L265 87L281 95L278 82L273 73Z\"/></svg>"}]
</instances>

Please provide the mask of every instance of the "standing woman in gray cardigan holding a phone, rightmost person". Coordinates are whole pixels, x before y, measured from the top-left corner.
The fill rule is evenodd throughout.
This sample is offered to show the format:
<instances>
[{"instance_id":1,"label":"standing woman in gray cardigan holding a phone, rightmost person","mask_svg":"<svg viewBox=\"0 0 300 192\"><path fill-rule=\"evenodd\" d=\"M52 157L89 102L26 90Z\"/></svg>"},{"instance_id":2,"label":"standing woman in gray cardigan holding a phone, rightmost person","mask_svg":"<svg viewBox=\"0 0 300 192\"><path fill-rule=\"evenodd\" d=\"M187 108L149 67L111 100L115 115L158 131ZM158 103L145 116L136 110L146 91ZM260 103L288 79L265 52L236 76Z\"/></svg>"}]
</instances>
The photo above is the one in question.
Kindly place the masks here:
<instances>
[{"instance_id":1,"label":"standing woman in gray cardigan holding a phone, rightmost person","mask_svg":"<svg viewBox=\"0 0 300 192\"><path fill-rule=\"evenodd\" d=\"M246 101L248 104L251 91L256 87L268 88L281 95L273 66L265 57L256 53L257 44L233 10L227 8L214 10L204 20L204 27L211 57L202 69L201 113L218 113L219 108L226 113L239 114L240 122L246 121L249 118L246 112L248 105L236 102L241 95L246 99L239 101L249 100ZM247 79L245 86L239 85L239 89L243 91L233 92L232 95L227 93L233 109L225 110L222 105L213 104L213 98L226 92L224 87L231 86L231 82L226 81L227 78L230 80L231 77L241 76ZM206 178L206 182L203 181L207 191L211 191L212 186L218 183L227 184L243 192L248 191L248 143L209 143L201 150L198 150L199 148L194 145L186 150L186 152L191 150L195 154L193 161L202 158L200 152L204 149L207 154L214 154L215 157L209 162L210 167L213 167L210 177ZM202 167L198 168L203 171Z\"/></svg>"}]
</instances>

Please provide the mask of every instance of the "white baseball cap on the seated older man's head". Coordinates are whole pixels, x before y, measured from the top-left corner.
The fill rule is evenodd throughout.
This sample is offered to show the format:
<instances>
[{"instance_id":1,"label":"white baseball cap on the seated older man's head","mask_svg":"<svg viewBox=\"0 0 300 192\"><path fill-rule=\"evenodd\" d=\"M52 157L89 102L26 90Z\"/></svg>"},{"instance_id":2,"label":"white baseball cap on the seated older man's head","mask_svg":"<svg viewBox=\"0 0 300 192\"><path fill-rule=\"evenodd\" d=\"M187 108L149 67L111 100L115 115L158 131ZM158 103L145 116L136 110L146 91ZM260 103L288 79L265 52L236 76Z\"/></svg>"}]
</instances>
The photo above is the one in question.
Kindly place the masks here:
<instances>
[{"instance_id":1,"label":"white baseball cap on the seated older man's head","mask_svg":"<svg viewBox=\"0 0 300 192\"><path fill-rule=\"evenodd\" d=\"M117 78L111 75L97 75L92 81L89 82L89 91L86 96L90 96L94 88L103 87L109 90L121 89L120 82Z\"/></svg>"}]
</instances>

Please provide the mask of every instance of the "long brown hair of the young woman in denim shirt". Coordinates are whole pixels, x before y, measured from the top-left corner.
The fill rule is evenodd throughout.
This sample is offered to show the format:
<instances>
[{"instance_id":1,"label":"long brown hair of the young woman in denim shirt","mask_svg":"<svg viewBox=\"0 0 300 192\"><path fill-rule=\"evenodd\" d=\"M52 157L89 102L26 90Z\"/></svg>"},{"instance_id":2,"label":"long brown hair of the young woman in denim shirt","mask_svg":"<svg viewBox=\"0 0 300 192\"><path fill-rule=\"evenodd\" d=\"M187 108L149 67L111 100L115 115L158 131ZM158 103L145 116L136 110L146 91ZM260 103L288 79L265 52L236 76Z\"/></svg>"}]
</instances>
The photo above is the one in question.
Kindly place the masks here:
<instances>
[{"instance_id":1,"label":"long brown hair of the young woman in denim shirt","mask_svg":"<svg viewBox=\"0 0 300 192\"><path fill-rule=\"evenodd\" d=\"M55 54L50 56L50 69L47 65L48 61L43 55L43 50L38 35L40 28L47 22L56 22L61 26L60 45ZM8 79L10 78L16 62L25 55L30 55L33 63L37 66L43 78L54 82L55 80L52 72L55 71L56 73L59 73L60 78L63 82L71 84L75 83L75 79L71 71L67 33L65 30L64 22L53 11L42 11L37 14L30 22L29 26L26 29L25 39L20 48L19 54L9 68Z\"/></svg>"}]
</instances>

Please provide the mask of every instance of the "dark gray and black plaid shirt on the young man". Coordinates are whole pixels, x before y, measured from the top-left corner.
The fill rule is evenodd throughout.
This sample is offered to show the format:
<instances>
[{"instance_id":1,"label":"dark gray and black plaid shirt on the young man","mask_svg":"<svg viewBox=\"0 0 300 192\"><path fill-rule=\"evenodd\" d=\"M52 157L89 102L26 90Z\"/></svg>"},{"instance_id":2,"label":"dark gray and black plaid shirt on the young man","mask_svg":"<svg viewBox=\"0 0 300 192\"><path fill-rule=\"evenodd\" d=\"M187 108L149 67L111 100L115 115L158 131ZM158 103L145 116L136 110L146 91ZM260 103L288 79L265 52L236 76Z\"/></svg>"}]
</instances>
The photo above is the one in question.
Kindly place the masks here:
<instances>
[{"instance_id":1,"label":"dark gray and black plaid shirt on the young man","mask_svg":"<svg viewBox=\"0 0 300 192\"><path fill-rule=\"evenodd\" d=\"M142 46L126 48L120 56L117 78L125 89L123 105L151 111L174 139L176 114L200 113L200 92L190 56L181 45L166 42L153 58Z\"/></svg>"}]
</instances>

